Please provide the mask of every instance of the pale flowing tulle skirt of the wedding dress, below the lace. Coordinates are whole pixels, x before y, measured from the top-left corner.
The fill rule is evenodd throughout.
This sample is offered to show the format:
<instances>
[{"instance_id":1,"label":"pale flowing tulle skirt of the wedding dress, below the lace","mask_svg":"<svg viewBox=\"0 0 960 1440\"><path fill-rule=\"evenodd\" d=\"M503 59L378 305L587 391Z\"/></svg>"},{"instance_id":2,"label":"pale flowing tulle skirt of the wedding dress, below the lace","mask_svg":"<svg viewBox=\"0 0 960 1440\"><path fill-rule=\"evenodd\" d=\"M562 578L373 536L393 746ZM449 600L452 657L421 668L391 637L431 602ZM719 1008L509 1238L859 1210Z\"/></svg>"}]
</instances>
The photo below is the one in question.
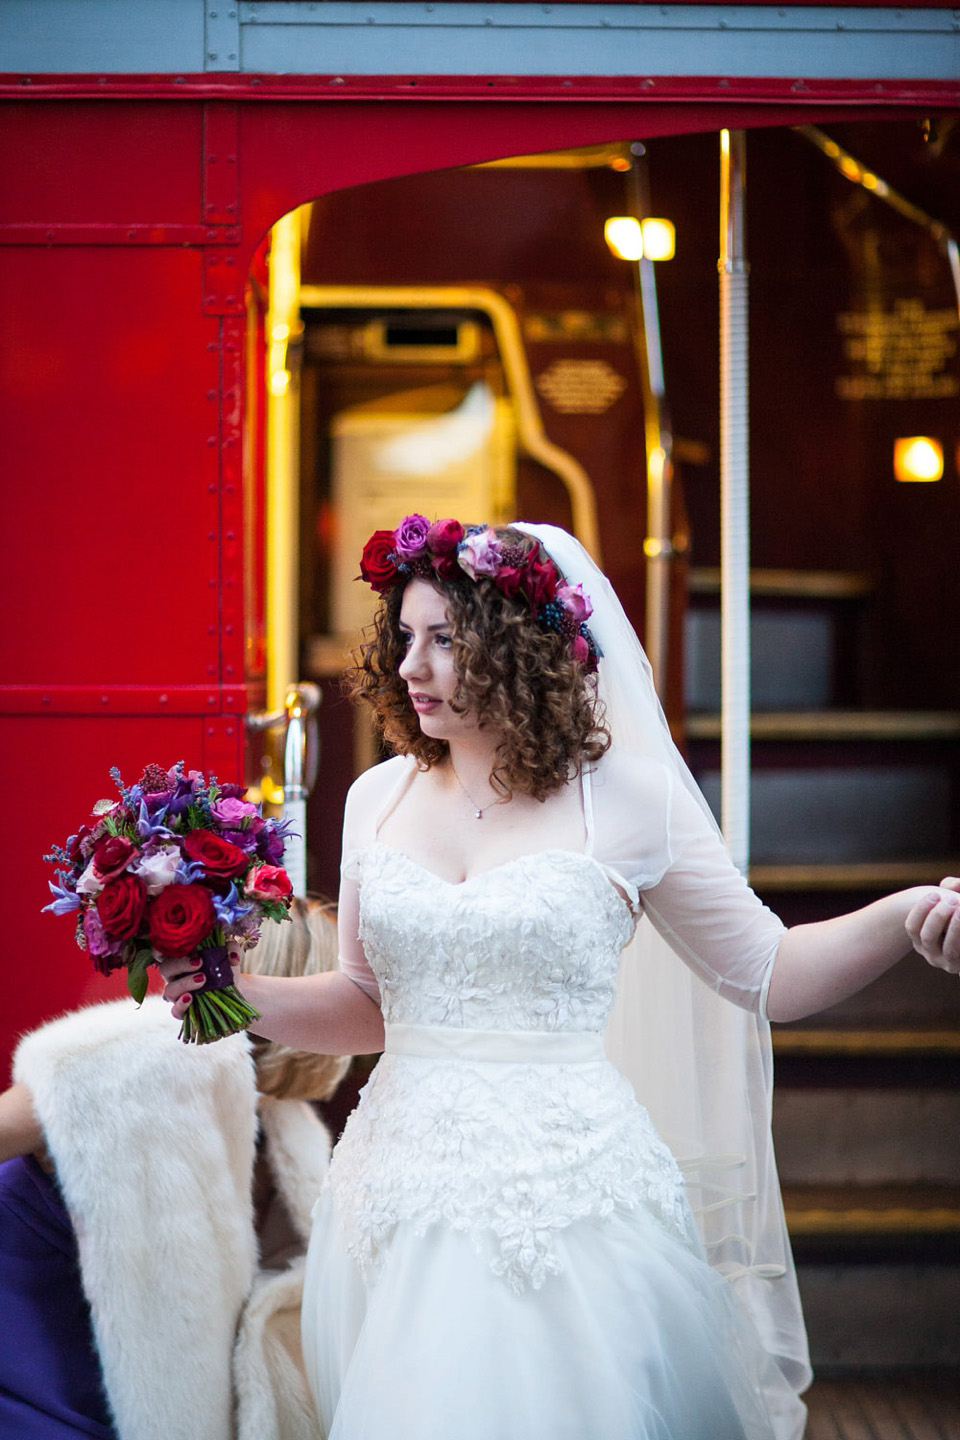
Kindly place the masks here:
<instances>
[{"instance_id":1,"label":"pale flowing tulle skirt of the wedding dress, below the lace","mask_svg":"<svg viewBox=\"0 0 960 1440\"><path fill-rule=\"evenodd\" d=\"M330 1194L304 1286L304 1358L327 1440L771 1440L796 1397L725 1280L642 1208L557 1236L517 1295L469 1236L402 1223L376 1274Z\"/></svg>"}]
</instances>

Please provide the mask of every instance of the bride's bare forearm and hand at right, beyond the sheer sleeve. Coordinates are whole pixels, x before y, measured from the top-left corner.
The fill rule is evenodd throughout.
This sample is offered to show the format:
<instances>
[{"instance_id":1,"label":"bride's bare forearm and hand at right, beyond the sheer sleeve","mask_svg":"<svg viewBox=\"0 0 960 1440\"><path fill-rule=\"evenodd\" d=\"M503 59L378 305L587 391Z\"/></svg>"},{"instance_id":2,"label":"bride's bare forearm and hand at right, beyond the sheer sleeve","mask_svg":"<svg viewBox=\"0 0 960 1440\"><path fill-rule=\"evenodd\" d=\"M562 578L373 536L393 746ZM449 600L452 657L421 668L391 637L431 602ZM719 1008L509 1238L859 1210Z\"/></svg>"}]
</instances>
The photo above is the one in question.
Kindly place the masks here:
<instances>
[{"instance_id":1,"label":"bride's bare forearm and hand at right, beyond the sheer sleeve","mask_svg":"<svg viewBox=\"0 0 960 1440\"><path fill-rule=\"evenodd\" d=\"M794 924L780 940L767 992L770 1020L802 1020L869 985L910 946L960 971L960 881L914 886L835 920Z\"/></svg>"}]
</instances>

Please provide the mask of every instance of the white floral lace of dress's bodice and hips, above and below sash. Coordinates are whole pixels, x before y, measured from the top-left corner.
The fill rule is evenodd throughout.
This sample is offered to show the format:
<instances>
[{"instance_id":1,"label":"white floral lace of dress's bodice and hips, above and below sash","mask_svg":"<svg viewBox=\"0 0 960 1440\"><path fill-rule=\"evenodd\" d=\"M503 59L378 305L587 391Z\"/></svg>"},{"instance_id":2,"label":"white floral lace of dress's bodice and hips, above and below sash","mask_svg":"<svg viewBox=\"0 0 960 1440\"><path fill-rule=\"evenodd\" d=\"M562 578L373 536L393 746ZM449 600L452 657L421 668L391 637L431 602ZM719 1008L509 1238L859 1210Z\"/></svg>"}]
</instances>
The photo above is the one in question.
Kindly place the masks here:
<instances>
[{"instance_id":1,"label":"white floral lace of dress's bodice and hips, above and below sash","mask_svg":"<svg viewBox=\"0 0 960 1440\"><path fill-rule=\"evenodd\" d=\"M449 884L374 842L360 935L387 1025L593 1032L633 917L589 855L541 851ZM394 1225L443 1220L515 1289L557 1269L553 1237L645 1204L691 1234L679 1171L604 1060L384 1054L335 1151L331 1187L361 1267Z\"/></svg>"}]
</instances>

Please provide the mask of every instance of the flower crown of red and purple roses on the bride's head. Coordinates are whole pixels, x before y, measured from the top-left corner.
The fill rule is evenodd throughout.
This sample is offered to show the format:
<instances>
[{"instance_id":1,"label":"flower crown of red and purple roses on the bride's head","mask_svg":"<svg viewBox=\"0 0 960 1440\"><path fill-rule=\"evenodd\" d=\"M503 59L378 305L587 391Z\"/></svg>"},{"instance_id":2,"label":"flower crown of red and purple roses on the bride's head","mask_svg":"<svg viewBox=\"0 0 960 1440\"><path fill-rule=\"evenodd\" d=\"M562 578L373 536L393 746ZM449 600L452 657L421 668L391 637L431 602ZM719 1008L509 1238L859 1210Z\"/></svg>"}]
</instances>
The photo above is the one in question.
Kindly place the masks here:
<instances>
[{"instance_id":1,"label":"flower crown of red and purple roses on the bride's head","mask_svg":"<svg viewBox=\"0 0 960 1440\"><path fill-rule=\"evenodd\" d=\"M377 595L409 577L492 580L508 599L527 600L538 625L563 635L587 672L597 668L600 649L586 625L590 598L581 585L567 585L538 544L511 544L489 526L465 528L459 520L430 524L425 516L407 516L396 530L374 530L363 547L360 575Z\"/></svg>"}]
</instances>

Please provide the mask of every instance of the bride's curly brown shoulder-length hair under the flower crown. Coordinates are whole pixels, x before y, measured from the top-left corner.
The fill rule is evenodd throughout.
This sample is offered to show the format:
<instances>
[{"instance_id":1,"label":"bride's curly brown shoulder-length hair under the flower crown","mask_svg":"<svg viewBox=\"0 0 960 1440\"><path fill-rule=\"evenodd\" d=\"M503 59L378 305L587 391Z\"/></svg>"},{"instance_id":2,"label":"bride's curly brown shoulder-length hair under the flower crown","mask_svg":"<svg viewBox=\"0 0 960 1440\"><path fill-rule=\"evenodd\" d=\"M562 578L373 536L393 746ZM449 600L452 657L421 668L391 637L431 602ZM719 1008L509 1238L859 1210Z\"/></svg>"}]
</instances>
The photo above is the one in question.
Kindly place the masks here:
<instances>
[{"instance_id":1,"label":"bride's curly brown shoulder-length hair under the flower crown","mask_svg":"<svg viewBox=\"0 0 960 1440\"><path fill-rule=\"evenodd\" d=\"M533 536L510 527L497 534L505 544L547 559ZM596 675L571 657L564 636L537 624L525 599L508 598L486 576L471 580L456 575L429 583L443 596L450 621L458 675L452 706L471 711L499 736L491 785L505 799L514 792L545 799L610 746ZM449 747L446 740L422 733L400 680L406 654L400 606L407 585L409 577L402 579L381 595L347 687L353 698L370 706L390 749L413 755L429 770Z\"/></svg>"}]
</instances>

